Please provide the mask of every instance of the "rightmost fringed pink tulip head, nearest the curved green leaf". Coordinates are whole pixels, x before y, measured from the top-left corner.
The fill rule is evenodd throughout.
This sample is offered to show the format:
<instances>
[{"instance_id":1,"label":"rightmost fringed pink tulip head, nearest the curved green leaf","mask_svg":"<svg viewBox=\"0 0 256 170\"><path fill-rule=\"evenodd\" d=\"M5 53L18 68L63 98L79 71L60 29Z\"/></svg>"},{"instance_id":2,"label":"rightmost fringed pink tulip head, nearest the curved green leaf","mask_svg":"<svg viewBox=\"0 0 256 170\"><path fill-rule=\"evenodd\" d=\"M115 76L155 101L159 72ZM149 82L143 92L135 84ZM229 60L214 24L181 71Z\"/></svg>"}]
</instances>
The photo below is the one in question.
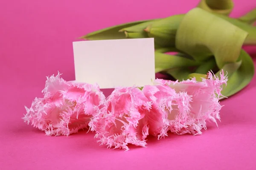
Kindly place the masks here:
<instances>
[{"instance_id":1,"label":"rightmost fringed pink tulip head, nearest the curved green leaf","mask_svg":"<svg viewBox=\"0 0 256 170\"><path fill-rule=\"evenodd\" d=\"M219 103L219 99L222 96L222 85L227 84L227 77L224 76L223 71L220 75L221 77L218 78L209 72L207 79L202 79L202 82L197 82L195 78L182 82L163 79L154 81L155 85L168 85L180 95L182 93L189 95L189 97L185 97L185 94L182 94L183 102L180 101L180 104L186 105L186 107L180 107L180 109L186 108L185 112L181 111L183 116L186 115L187 111L189 113L186 115L186 119L175 118L175 122L171 123L175 126L170 129L173 133L198 135L202 133L202 129L207 129L206 121L212 121L217 124L216 119L220 119L219 111L222 107ZM186 102L184 99L186 99ZM183 117L182 115L180 116Z\"/></svg>"}]
</instances>

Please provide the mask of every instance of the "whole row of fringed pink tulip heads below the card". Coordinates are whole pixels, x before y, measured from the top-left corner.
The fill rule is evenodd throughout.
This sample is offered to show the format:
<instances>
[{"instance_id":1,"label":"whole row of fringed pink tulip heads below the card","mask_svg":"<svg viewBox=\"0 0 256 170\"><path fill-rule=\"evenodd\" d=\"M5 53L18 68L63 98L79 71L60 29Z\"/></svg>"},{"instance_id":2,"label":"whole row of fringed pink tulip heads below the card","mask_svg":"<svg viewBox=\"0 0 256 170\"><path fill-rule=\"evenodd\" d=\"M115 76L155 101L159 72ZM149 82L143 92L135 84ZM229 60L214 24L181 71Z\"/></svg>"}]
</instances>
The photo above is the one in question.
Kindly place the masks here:
<instances>
[{"instance_id":1,"label":"whole row of fringed pink tulip heads below the card","mask_svg":"<svg viewBox=\"0 0 256 170\"><path fill-rule=\"evenodd\" d=\"M209 72L201 82L156 79L142 90L116 88L106 99L98 85L67 82L60 74L52 75L47 77L44 97L35 98L23 119L49 136L70 135L89 127L97 142L129 150L128 144L146 147L148 135L158 139L169 131L198 135L207 129L207 121L217 125L224 84L223 71L220 78Z\"/></svg>"}]
</instances>

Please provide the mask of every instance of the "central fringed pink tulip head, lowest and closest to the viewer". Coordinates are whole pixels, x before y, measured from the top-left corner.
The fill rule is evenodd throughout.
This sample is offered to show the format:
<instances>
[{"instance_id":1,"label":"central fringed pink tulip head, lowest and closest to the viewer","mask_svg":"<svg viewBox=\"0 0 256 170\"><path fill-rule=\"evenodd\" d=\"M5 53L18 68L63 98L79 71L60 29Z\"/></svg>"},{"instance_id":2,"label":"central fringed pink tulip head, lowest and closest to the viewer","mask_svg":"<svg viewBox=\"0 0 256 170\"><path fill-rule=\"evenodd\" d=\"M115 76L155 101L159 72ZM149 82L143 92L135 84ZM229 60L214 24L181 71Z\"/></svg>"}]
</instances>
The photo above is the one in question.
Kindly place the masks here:
<instances>
[{"instance_id":1,"label":"central fringed pink tulip head, lowest and closest to the viewer","mask_svg":"<svg viewBox=\"0 0 256 170\"><path fill-rule=\"evenodd\" d=\"M144 116L151 103L136 87L116 88L105 108L90 122L98 142L108 147L129 150L128 144L145 147L148 126Z\"/></svg>"}]
</instances>

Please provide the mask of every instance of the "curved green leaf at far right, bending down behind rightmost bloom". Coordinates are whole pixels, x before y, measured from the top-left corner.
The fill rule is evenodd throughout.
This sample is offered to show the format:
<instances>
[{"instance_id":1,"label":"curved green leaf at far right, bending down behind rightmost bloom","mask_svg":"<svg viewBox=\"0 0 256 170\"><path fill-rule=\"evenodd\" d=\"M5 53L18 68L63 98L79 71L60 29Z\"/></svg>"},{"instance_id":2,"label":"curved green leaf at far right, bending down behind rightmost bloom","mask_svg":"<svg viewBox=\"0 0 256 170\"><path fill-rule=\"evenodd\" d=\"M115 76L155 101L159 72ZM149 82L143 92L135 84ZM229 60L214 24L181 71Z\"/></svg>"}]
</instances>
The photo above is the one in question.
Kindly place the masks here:
<instances>
[{"instance_id":1,"label":"curved green leaf at far right, bending down behind rightmost bloom","mask_svg":"<svg viewBox=\"0 0 256 170\"><path fill-rule=\"evenodd\" d=\"M229 97L236 94L246 87L253 79L253 60L244 50L241 50L240 59L239 62L230 63L223 67L224 73L227 72L228 75L227 86L223 87L223 90L221 91L223 96ZM216 76L219 77L219 73L220 72L216 73Z\"/></svg>"}]
</instances>

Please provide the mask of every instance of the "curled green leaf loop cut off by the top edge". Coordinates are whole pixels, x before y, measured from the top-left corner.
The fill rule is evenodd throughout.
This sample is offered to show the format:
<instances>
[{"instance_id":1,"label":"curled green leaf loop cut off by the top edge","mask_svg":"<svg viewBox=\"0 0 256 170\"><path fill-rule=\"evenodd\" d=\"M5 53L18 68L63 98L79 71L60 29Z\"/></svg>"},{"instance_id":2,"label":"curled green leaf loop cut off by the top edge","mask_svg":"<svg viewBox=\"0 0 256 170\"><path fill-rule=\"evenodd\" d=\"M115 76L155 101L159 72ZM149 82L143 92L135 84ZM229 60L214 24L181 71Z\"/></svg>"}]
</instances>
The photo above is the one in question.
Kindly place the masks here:
<instances>
[{"instance_id":1,"label":"curled green leaf loop cut off by the top edge","mask_svg":"<svg viewBox=\"0 0 256 170\"><path fill-rule=\"evenodd\" d=\"M232 0L201 0L198 7L208 12L229 15L234 3Z\"/></svg>"}]
</instances>

